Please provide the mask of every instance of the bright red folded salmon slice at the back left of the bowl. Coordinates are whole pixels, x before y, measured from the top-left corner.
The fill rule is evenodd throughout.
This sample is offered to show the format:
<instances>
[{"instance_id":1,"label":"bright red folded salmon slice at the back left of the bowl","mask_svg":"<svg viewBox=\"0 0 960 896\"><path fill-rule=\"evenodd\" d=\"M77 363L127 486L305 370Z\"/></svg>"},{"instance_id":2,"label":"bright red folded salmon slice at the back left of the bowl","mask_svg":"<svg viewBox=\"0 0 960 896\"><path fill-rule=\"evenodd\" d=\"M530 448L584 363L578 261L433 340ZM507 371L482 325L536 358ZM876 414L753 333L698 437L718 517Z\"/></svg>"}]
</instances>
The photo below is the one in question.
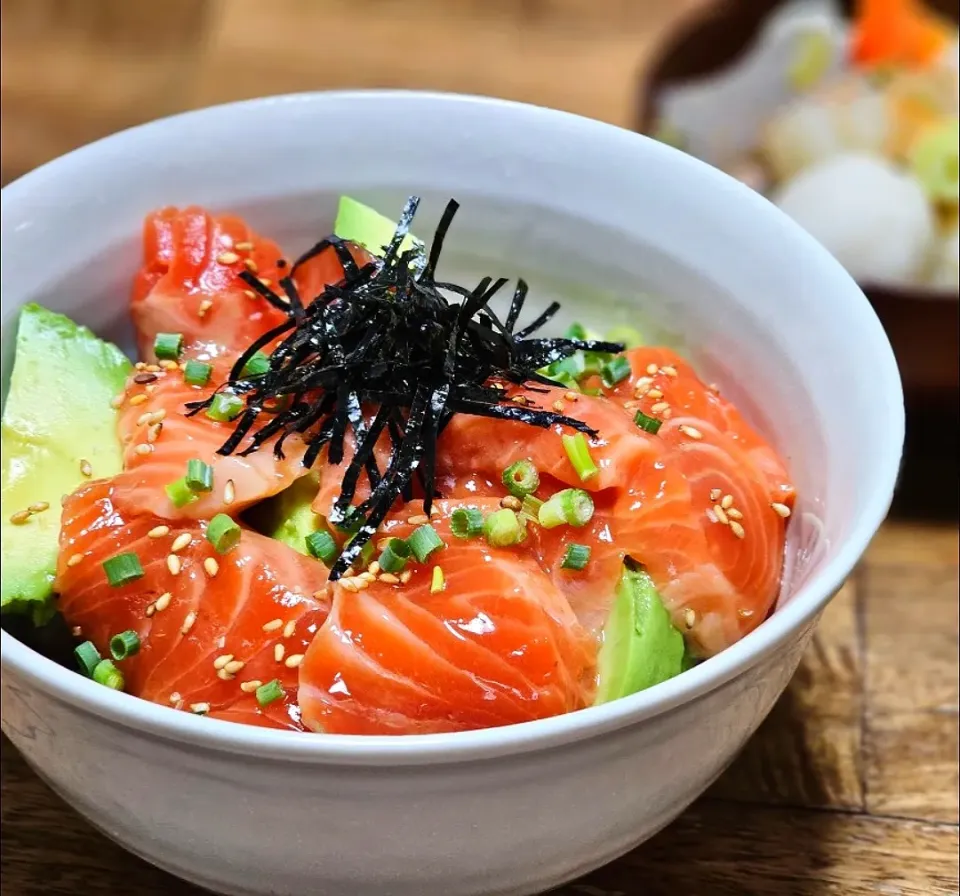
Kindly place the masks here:
<instances>
[{"instance_id":1,"label":"bright red folded salmon slice at the back left of the bowl","mask_svg":"<svg viewBox=\"0 0 960 896\"><path fill-rule=\"evenodd\" d=\"M131 315L140 357L153 360L158 333L180 333L187 345L242 351L287 321L242 279L248 271L275 287L281 252L236 215L197 206L163 208L143 228L143 264L133 285Z\"/></svg>"}]
</instances>

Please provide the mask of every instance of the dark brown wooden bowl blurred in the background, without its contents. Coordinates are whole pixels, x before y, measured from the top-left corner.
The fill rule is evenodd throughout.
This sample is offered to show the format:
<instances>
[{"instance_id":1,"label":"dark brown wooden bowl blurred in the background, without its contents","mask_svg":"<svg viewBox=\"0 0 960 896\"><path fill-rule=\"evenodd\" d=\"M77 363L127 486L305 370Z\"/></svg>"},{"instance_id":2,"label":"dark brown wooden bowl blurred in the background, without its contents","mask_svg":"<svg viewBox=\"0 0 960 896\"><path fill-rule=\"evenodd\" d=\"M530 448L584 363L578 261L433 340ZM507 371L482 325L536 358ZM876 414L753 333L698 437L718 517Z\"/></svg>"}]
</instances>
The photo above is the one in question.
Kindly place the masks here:
<instances>
[{"instance_id":1,"label":"dark brown wooden bowl blurred in the background, without its contents","mask_svg":"<svg viewBox=\"0 0 960 896\"><path fill-rule=\"evenodd\" d=\"M928 0L953 19L957 0ZM720 0L700 7L663 41L640 86L637 130L651 133L659 97L667 86L700 78L735 62L752 44L781 0ZM847 12L851 4L841 4ZM930 399L957 412L960 382L960 297L931 298L922 288L861 283L887 330L907 392L908 405Z\"/></svg>"}]
</instances>

